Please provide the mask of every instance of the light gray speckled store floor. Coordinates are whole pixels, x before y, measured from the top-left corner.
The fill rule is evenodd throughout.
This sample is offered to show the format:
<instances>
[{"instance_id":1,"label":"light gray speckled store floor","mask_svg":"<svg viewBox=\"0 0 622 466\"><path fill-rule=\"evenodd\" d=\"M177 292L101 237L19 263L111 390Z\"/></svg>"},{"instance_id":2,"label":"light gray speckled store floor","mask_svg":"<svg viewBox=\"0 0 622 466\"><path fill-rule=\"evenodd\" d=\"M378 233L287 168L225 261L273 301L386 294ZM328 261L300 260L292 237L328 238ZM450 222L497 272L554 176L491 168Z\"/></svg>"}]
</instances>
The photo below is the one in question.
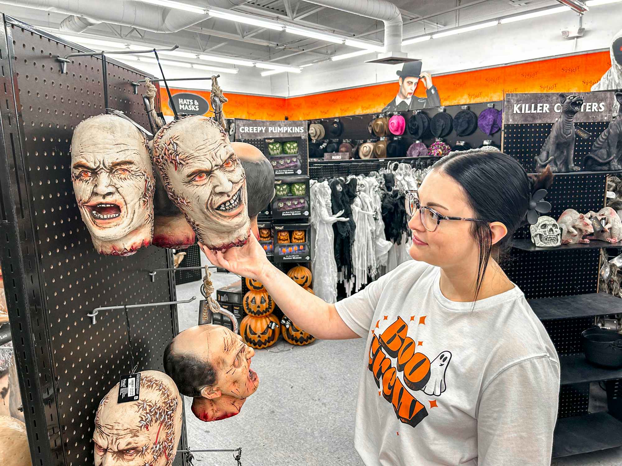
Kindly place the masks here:
<instances>
[{"instance_id":1,"label":"light gray speckled store floor","mask_svg":"<svg viewBox=\"0 0 622 466\"><path fill-rule=\"evenodd\" d=\"M212 277L216 289L238 280L230 274ZM200 281L178 285L177 298L200 298L200 285ZM180 330L197 324L197 301L178 309ZM244 466L362 466L353 447L353 429L364 346L362 339L356 339L315 340L294 347L281 339L269 349L257 350L253 368L259 388L237 416L203 423L190 411L192 398L185 398L188 446L242 447ZM234 466L231 455L198 453L195 464ZM551 465L620 466L622 448L553 460Z\"/></svg>"}]
</instances>

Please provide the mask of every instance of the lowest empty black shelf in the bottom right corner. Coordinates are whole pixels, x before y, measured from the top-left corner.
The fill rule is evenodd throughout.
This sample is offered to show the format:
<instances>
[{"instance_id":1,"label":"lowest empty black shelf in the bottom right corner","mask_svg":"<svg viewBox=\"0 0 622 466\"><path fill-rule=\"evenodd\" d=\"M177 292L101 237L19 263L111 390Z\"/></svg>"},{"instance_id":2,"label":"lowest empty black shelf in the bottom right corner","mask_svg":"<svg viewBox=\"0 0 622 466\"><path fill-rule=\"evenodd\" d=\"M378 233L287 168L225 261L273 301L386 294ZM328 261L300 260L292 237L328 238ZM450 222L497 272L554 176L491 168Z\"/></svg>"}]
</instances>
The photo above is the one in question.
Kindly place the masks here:
<instances>
[{"instance_id":1,"label":"lowest empty black shelf in the bottom right corner","mask_svg":"<svg viewBox=\"0 0 622 466\"><path fill-rule=\"evenodd\" d=\"M557 419L553 457L578 455L622 446L622 422L608 413Z\"/></svg>"}]
</instances>

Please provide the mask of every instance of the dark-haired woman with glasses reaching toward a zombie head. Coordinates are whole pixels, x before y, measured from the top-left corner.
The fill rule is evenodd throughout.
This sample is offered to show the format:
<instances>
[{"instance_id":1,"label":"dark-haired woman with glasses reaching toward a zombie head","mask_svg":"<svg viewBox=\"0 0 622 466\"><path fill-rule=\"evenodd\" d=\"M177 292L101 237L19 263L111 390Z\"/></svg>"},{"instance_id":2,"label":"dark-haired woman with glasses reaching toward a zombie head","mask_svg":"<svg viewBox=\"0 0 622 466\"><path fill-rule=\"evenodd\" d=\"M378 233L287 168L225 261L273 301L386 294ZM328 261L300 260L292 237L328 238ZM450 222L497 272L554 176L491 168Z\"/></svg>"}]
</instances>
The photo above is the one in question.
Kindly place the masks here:
<instances>
[{"instance_id":1,"label":"dark-haired woman with glasses reaching toward a zombie head","mask_svg":"<svg viewBox=\"0 0 622 466\"><path fill-rule=\"evenodd\" d=\"M271 265L254 237L202 249L261 281L313 336L366 339L355 426L365 465L549 466L559 359L498 257L551 182L504 153L443 157L406 193L414 260L335 304Z\"/></svg>"}]
</instances>

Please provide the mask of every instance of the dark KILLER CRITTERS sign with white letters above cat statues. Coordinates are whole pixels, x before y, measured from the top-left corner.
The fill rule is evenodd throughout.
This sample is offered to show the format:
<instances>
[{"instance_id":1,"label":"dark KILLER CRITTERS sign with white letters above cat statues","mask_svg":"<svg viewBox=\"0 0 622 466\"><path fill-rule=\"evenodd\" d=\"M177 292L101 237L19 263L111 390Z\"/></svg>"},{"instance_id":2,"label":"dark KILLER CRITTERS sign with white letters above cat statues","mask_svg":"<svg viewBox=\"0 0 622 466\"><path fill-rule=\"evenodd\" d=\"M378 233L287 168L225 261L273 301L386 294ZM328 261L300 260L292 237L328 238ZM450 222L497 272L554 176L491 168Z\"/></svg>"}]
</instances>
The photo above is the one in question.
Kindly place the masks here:
<instances>
[{"instance_id":1,"label":"dark KILLER CRITTERS sign with white letters above cat statues","mask_svg":"<svg viewBox=\"0 0 622 466\"><path fill-rule=\"evenodd\" d=\"M583 97L581 110L574 117L575 123L611 121L613 116L613 91L565 93L566 96ZM559 93L506 94L503 106L504 124L553 123L561 112Z\"/></svg>"}]
</instances>

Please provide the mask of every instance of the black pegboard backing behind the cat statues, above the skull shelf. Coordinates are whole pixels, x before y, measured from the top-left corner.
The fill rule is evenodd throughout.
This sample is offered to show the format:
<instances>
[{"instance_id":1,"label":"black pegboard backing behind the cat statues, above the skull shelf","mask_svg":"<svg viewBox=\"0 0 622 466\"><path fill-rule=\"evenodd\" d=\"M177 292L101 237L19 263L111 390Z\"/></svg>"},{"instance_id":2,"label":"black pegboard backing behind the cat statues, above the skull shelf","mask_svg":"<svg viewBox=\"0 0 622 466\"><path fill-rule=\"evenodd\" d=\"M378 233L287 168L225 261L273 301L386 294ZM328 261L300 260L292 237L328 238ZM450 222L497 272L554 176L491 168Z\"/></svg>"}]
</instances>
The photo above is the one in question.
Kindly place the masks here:
<instances>
[{"instance_id":1,"label":"black pegboard backing behind the cat statues, above the skull shelf","mask_svg":"<svg viewBox=\"0 0 622 466\"><path fill-rule=\"evenodd\" d=\"M536 171L534 157L540 155L542 145L553 125L553 123L505 125L503 128L503 152L517 158L525 170L534 173ZM583 158L590 153L595 140L608 125L609 122L575 123L575 127L580 127L590 133L588 139L576 135L574 163L577 167L583 170Z\"/></svg>"}]
</instances>

